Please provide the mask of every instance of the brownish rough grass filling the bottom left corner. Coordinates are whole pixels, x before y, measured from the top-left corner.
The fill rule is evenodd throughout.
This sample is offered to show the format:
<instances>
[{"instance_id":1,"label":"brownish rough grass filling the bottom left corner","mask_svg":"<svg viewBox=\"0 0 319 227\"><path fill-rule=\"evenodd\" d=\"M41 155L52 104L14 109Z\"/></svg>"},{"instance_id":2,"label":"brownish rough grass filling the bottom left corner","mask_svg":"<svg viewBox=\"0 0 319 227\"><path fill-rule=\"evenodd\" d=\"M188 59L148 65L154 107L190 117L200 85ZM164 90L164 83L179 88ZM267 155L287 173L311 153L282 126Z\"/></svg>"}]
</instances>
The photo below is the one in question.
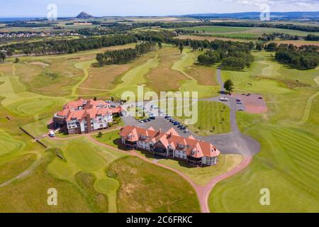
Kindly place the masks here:
<instances>
[{"instance_id":1,"label":"brownish rough grass filling the bottom left corner","mask_svg":"<svg viewBox=\"0 0 319 227\"><path fill-rule=\"evenodd\" d=\"M32 175L0 189L1 212L90 212L86 199L71 182L52 177L46 170L50 157ZM57 206L47 205L47 189L58 193Z\"/></svg>"}]
</instances>

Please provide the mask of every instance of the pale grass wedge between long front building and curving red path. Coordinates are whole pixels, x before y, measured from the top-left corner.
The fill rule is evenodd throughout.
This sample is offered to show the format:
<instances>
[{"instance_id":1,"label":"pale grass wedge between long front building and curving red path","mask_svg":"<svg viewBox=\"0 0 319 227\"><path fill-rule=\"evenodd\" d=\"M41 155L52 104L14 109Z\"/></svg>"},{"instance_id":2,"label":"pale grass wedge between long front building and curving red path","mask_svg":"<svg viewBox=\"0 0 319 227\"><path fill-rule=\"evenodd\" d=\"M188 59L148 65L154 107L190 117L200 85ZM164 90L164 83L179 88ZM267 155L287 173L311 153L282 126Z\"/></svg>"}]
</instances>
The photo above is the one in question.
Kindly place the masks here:
<instances>
[{"instance_id":1,"label":"pale grass wedge between long front building and curving red path","mask_svg":"<svg viewBox=\"0 0 319 227\"><path fill-rule=\"evenodd\" d=\"M222 175L242 162L242 155L220 155L218 165L209 167L190 167L185 161L162 159L159 163L172 167L190 177L195 184L205 185L213 177Z\"/></svg>"}]
</instances>

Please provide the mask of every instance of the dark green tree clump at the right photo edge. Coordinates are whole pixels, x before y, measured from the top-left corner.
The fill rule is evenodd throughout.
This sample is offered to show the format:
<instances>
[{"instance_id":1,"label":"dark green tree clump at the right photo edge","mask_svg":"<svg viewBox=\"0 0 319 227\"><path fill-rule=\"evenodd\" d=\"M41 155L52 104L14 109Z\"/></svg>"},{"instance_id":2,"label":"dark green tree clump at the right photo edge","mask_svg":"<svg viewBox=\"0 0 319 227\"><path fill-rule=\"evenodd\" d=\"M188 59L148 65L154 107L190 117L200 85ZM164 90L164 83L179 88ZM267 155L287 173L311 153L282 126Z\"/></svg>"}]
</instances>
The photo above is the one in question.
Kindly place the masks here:
<instances>
[{"instance_id":1,"label":"dark green tree clump at the right photo edge","mask_svg":"<svg viewBox=\"0 0 319 227\"><path fill-rule=\"evenodd\" d=\"M275 59L298 70L314 69L319 64L319 47L303 45L300 48L292 44L281 44L276 48Z\"/></svg>"}]
</instances>

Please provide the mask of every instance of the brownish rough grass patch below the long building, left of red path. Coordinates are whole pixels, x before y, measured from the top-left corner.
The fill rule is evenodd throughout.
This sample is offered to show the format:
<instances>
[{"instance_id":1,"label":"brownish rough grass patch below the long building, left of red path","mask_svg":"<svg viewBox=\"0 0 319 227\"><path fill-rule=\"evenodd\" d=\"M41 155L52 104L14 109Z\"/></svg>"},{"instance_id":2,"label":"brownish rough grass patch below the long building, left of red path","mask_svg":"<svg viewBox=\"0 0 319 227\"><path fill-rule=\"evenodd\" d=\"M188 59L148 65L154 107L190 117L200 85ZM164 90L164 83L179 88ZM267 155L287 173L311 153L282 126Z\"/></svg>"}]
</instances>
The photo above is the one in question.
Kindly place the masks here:
<instances>
[{"instance_id":1,"label":"brownish rough grass patch below the long building, left of red path","mask_svg":"<svg viewBox=\"0 0 319 227\"><path fill-rule=\"evenodd\" d=\"M128 174L129 173L129 174ZM120 182L119 212L199 212L194 189L175 172L125 157L112 162L108 176Z\"/></svg>"}]
</instances>

